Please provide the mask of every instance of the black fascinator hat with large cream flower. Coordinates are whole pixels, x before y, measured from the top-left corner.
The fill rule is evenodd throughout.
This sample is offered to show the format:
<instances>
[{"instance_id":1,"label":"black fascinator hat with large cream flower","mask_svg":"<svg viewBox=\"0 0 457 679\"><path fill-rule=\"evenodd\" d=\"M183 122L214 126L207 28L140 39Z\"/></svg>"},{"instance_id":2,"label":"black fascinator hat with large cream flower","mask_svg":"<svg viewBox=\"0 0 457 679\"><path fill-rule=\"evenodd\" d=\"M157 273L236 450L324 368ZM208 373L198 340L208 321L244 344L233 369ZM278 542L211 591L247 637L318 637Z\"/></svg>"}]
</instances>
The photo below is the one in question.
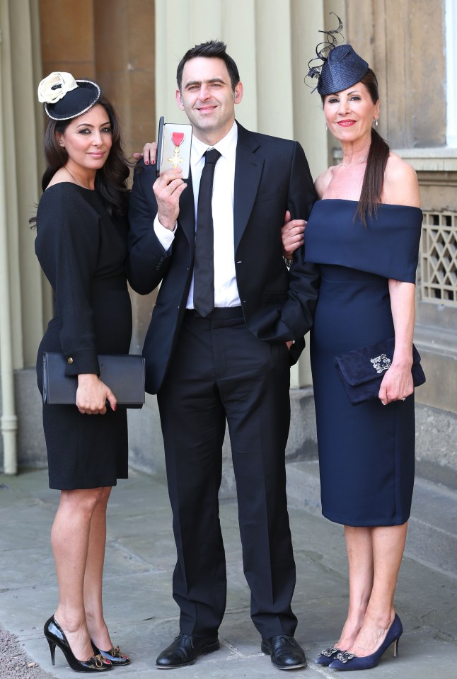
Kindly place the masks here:
<instances>
[{"instance_id":1,"label":"black fascinator hat with large cream flower","mask_svg":"<svg viewBox=\"0 0 457 679\"><path fill-rule=\"evenodd\" d=\"M86 113L102 92L91 80L75 80L71 73L52 72L38 85L38 101L52 120L71 120Z\"/></svg>"}]
</instances>

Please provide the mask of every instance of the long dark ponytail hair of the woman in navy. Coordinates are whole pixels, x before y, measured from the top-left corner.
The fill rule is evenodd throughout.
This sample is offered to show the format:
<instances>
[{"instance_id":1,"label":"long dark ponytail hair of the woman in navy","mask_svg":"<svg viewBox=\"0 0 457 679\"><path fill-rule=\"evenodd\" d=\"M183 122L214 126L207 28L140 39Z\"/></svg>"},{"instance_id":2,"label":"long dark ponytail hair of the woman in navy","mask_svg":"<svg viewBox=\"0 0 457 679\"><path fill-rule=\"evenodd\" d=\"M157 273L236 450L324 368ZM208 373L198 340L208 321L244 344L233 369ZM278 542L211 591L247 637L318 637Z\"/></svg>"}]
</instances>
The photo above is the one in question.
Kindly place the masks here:
<instances>
[{"instance_id":1,"label":"long dark ponytail hair of the woman in navy","mask_svg":"<svg viewBox=\"0 0 457 679\"><path fill-rule=\"evenodd\" d=\"M378 80L371 69L368 69L360 81L369 91L371 101L374 104L379 99ZM323 101L325 97L322 98ZM384 174L389 157L390 149L381 135L371 127L371 145L366 160L364 183L361 186L359 205L357 205L356 215L359 215L361 222L366 227L366 215L376 216L378 205L381 202L381 195L384 186Z\"/></svg>"}]
</instances>

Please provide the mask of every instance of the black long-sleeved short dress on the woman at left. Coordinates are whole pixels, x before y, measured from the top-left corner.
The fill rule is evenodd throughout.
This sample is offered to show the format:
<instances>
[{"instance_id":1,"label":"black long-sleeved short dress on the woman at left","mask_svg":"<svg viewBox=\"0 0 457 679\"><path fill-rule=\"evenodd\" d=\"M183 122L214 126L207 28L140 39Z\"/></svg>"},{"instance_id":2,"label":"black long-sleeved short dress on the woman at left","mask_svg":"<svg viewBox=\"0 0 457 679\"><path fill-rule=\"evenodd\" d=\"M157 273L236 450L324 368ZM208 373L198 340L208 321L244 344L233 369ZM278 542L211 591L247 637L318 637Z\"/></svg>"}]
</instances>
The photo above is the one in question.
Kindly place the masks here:
<instances>
[{"instance_id":1,"label":"black long-sleeved short dress on the woman at left","mask_svg":"<svg viewBox=\"0 0 457 679\"><path fill-rule=\"evenodd\" d=\"M54 318L37 354L59 351L66 373L98 374L98 353L128 353L132 307L127 290L127 220L110 219L96 190L62 182L47 188L37 210L35 252L54 290ZM81 414L43 405L50 488L115 486L128 474L127 413Z\"/></svg>"}]
</instances>

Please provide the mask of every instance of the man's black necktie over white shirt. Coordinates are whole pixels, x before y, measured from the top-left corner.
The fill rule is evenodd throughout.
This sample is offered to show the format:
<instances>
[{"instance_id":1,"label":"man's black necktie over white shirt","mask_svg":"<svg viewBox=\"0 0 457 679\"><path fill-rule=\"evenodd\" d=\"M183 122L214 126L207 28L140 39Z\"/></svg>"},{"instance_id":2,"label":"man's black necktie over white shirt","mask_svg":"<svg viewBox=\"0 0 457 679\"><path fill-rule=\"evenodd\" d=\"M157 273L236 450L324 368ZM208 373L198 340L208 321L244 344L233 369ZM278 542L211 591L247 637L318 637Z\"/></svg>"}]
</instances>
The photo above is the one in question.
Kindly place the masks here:
<instances>
[{"instance_id":1,"label":"man's black necktie over white shirt","mask_svg":"<svg viewBox=\"0 0 457 679\"><path fill-rule=\"evenodd\" d=\"M214 309L214 235L211 201L214 169L221 154L216 149L211 149L204 156L204 168L198 191L194 264L194 307L201 316L207 316Z\"/></svg>"}]
</instances>

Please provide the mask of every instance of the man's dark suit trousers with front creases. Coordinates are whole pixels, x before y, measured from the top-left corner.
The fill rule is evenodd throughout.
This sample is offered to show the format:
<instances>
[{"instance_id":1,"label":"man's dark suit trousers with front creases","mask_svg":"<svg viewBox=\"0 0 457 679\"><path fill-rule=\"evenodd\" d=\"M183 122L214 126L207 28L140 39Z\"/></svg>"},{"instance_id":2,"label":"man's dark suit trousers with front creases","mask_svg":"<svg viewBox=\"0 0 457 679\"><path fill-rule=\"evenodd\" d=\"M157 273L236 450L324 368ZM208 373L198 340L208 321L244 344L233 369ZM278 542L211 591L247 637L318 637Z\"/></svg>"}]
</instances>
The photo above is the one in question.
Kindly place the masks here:
<instances>
[{"instance_id":1,"label":"man's dark suit trousers with front creases","mask_svg":"<svg viewBox=\"0 0 457 679\"><path fill-rule=\"evenodd\" d=\"M238 318L214 318L218 312ZM241 309L213 314L185 312L158 392L178 552L173 597L180 630L214 636L224 615L218 492L227 421L251 617L264 638L294 634L295 564L284 466L290 419L287 346L255 338Z\"/></svg>"}]
</instances>

